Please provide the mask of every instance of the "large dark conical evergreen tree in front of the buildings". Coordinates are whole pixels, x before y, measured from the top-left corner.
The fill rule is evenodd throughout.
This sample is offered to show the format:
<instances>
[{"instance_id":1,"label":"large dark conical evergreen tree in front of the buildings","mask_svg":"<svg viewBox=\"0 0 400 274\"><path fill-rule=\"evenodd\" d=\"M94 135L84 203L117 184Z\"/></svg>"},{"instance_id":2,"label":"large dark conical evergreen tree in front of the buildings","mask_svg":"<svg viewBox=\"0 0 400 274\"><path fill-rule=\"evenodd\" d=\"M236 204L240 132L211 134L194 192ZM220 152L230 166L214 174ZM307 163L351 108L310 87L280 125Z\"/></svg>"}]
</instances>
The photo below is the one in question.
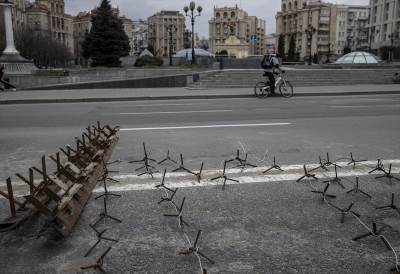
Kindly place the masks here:
<instances>
[{"instance_id":1,"label":"large dark conical evergreen tree in front of the buildings","mask_svg":"<svg viewBox=\"0 0 400 274\"><path fill-rule=\"evenodd\" d=\"M102 0L92 17L92 29L82 44L83 56L91 66L115 67L130 51L129 38L122 21L113 14L109 0Z\"/></svg>"}]
</instances>

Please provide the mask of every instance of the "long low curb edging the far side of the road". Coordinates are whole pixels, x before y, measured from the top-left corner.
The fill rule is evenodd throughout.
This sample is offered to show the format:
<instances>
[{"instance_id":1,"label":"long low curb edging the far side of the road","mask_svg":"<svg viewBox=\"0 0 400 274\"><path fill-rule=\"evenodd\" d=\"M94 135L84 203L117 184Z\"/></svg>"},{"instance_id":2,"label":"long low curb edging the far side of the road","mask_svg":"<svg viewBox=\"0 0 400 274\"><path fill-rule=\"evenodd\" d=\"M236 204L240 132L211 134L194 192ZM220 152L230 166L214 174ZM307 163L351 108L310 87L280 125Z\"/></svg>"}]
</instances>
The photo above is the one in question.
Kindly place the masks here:
<instances>
[{"instance_id":1,"label":"long low curb edging the far side of the road","mask_svg":"<svg viewBox=\"0 0 400 274\"><path fill-rule=\"evenodd\" d=\"M300 93L295 97L312 96L354 96L354 95L390 95L400 94L399 91L352 91L352 92L326 92L326 93ZM190 99L240 99L256 98L252 94L220 94L220 95L171 95L171 96L141 96L141 97L112 97L112 98L66 98L66 99L22 99L22 100L0 100L0 105L17 104L49 104L49 103L102 103L102 102L130 102L130 101L153 101L153 100L190 100ZM271 99L271 98L269 98Z\"/></svg>"}]
</instances>

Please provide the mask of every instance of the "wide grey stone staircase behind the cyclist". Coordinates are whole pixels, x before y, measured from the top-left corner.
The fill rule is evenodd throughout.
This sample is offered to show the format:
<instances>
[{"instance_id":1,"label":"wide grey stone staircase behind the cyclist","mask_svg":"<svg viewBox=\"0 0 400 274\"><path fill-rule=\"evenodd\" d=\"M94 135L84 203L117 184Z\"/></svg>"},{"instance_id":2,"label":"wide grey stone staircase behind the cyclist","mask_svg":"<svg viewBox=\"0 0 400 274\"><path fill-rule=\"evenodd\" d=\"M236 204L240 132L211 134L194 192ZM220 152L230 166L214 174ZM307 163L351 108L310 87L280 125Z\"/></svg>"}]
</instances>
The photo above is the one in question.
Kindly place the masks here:
<instances>
[{"instance_id":1,"label":"wide grey stone staircase behind the cyclist","mask_svg":"<svg viewBox=\"0 0 400 274\"><path fill-rule=\"evenodd\" d=\"M400 69L288 69L287 79L294 86L339 86L357 84L393 84ZM265 81L263 70L215 70L200 73L200 80L189 87L248 88Z\"/></svg>"}]
</instances>

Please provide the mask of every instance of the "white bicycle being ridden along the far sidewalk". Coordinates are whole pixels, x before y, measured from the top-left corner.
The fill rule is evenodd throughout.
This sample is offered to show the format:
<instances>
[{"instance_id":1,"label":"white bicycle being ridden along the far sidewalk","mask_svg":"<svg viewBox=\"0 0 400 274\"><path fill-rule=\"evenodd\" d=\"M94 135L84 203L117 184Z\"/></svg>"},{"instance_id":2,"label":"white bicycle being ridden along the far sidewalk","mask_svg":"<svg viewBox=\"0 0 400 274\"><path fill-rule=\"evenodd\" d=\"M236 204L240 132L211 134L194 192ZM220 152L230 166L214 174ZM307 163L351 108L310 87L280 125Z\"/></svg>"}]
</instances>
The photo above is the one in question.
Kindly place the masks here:
<instances>
[{"instance_id":1,"label":"white bicycle being ridden along the far sidewalk","mask_svg":"<svg viewBox=\"0 0 400 274\"><path fill-rule=\"evenodd\" d=\"M286 80L284 70L279 70L279 72L273 72L276 77L275 90L279 89L281 95L285 98L290 98L293 96L293 85ZM271 95L271 88L268 82L258 82L254 86L254 93L257 97L268 97Z\"/></svg>"}]
</instances>

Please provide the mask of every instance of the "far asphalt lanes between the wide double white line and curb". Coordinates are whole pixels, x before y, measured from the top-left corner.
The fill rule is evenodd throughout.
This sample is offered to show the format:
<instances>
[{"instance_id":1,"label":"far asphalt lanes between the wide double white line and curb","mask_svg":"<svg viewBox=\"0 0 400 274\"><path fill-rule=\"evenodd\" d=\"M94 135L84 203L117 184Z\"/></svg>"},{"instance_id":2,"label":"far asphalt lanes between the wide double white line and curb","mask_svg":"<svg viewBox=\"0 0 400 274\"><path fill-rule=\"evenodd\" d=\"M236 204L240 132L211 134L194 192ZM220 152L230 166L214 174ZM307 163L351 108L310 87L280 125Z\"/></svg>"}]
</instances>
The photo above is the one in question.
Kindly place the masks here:
<instances>
[{"instance_id":1,"label":"far asphalt lanes between the wide double white line and curb","mask_svg":"<svg viewBox=\"0 0 400 274\"><path fill-rule=\"evenodd\" d=\"M42 154L73 144L90 123L120 125L114 158L183 153L185 164L218 168L237 149L257 165L315 163L318 155L397 159L400 95L176 100L0 106L0 172L24 172ZM183 127L183 128L182 128ZM150 129L149 129L150 128ZM131 173L127 164L120 172Z\"/></svg>"}]
</instances>

